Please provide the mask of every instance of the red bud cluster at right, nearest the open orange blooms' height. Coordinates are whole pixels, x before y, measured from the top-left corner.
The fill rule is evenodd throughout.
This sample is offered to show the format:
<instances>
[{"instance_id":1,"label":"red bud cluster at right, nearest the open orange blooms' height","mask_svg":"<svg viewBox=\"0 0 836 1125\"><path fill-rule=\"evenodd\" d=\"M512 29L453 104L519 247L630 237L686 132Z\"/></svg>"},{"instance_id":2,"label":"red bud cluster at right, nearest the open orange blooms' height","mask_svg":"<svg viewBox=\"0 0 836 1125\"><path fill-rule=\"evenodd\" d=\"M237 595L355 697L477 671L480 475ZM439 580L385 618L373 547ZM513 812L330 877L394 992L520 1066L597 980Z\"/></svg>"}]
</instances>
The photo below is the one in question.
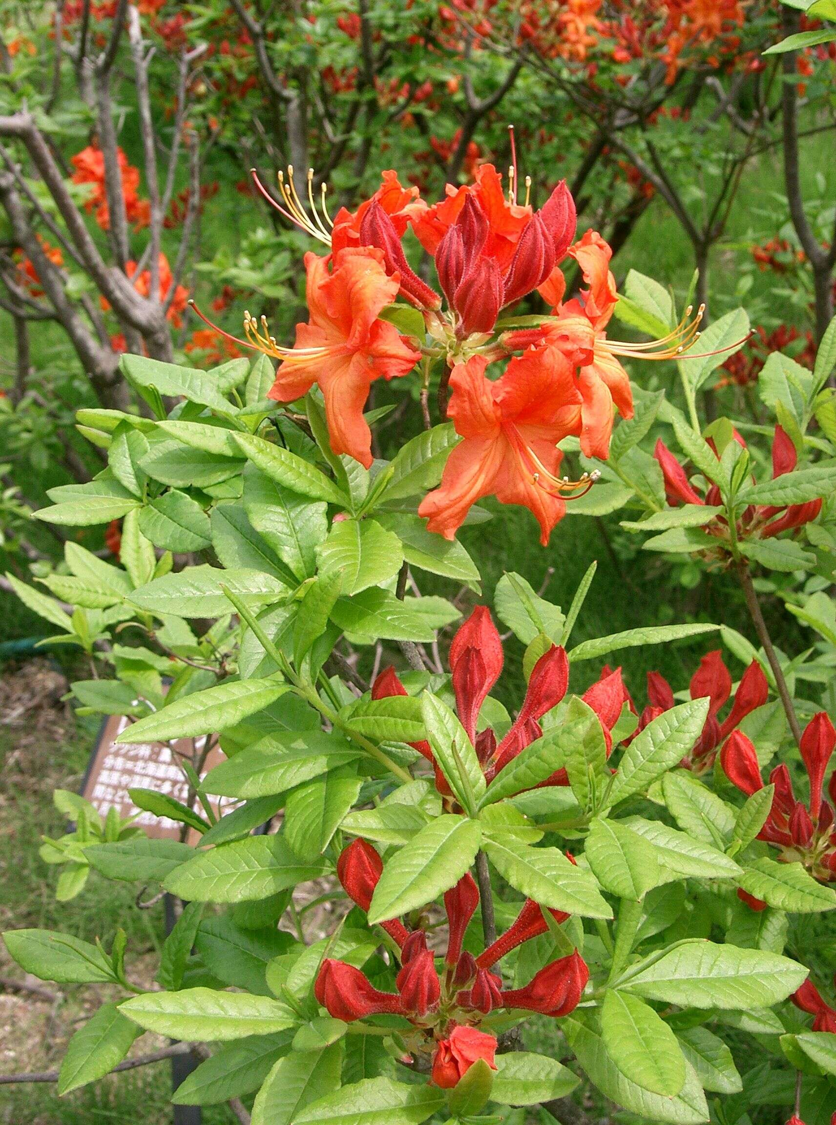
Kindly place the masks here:
<instances>
[{"instance_id":1,"label":"red bud cluster at right, nearest the open orange blooms' height","mask_svg":"<svg viewBox=\"0 0 836 1125\"><path fill-rule=\"evenodd\" d=\"M735 441L746 449L746 442L737 431L735 431L734 436ZM717 453L711 440L709 440L709 444ZM685 470L660 438L656 442L654 457L662 468L662 475L665 478L665 495L672 507L676 507L678 504L713 505L722 503L720 489L716 484L710 484L704 496L696 492ZM772 479L792 472L797 465L798 453L792 439L782 426L776 425L772 441ZM821 500L789 505L749 504L737 520L735 537L738 540L771 539L773 536L780 536L782 531L790 531L809 523L816 519L820 511ZM730 541L730 529L725 515L713 516L702 530L717 539L718 547L728 544Z\"/></svg>"}]
</instances>

